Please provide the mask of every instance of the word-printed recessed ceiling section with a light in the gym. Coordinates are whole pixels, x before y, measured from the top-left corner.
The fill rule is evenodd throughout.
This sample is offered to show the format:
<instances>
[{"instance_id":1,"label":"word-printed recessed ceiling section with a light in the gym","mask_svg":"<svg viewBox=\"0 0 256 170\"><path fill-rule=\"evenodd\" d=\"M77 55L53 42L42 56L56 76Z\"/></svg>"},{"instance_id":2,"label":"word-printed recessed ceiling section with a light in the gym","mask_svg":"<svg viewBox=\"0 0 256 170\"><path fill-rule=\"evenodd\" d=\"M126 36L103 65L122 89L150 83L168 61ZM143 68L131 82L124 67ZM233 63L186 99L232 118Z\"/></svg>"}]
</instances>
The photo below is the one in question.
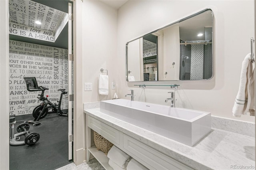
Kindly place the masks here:
<instances>
[{"instance_id":1,"label":"word-printed recessed ceiling section with a light in the gym","mask_svg":"<svg viewBox=\"0 0 256 170\"><path fill-rule=\"evenodd\" d=\"M68 22L67 13L31 0L9 0L9 14L9 34L48 42L55 42Z\"/></svg>"}]
</instances>

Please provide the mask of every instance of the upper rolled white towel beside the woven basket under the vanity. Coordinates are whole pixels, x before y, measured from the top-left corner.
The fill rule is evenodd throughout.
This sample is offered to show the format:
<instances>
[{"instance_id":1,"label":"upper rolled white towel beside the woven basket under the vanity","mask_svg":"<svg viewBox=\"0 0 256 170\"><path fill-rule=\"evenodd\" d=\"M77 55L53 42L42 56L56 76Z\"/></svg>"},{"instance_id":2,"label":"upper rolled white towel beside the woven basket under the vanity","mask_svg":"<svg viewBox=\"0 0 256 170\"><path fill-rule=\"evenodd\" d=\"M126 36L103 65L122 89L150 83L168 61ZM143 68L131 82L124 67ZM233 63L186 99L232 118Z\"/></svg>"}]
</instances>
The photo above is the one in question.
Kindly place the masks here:
<instances>
[{"instance_id":1,"label":"upper rolled white towel beside the woven basket under the vanity","mask_svg":"<svg viewBox=\"0 0 256 170\"><path fill-rule=\"evenodd\" d=\"M107 156L121 168L126 168L128 162L131 159L128 154L126 154L116 146L112 146L112 148L108 151Z\"/></svg>"}]
</instances>

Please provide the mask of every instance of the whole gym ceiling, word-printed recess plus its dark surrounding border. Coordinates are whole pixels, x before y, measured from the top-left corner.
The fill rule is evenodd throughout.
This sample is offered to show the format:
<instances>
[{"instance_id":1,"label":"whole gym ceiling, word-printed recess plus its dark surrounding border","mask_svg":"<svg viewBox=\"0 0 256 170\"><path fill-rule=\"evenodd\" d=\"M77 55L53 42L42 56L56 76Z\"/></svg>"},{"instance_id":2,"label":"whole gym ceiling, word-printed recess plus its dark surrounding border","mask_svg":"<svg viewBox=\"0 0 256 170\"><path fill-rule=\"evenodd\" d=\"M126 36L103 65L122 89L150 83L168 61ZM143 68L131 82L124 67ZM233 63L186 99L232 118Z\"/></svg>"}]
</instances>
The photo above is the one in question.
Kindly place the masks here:
<instances>
[{"instance_id":1,"label":"whole gym ceiling, word-printed recess plus its dark surrounding border","mask_svg":"<svg viewBox=\"0 0 256 170\"><path fill-rule=\"evenodd\" d=\"M66 0L26 0L26 4L21 4L21 1L14 0L9 4L9 11L12 12L13 17L9 18L10 25L12 23L20 26L26 26L30 30L31 28L41 30L40 33L45 32L46 34L51 34L56 36L54 37L54 41L39 40L28 37L28 36L18 36L15 34L9 34L10 40L16 40L21 42L35 43L40 45L47 45L52 47L59 48L68 48L68 24L62 22L61 20L63 16L67 17L68 13L68 1ZM30 4L28 3L30 2ZM14 3L14 4L12 4ZM18 6L16 6L16 4ZM26 12L22 11L26 7ZM30 6L30 7L29 7ZM36 7L33 8L33 7ZM28 13L28 9L30 8L30 12ZM54 9L53 9L54 8ZM47 12L48 13L47 13ZM33 13L35 12L35 13ZM45 12L44 17L40 17L40 12ZM49 14L49 15L46 15ZM39 17L38 17L39 16ZM50 16L50 17L47 17ZM17 20L12 20L13 18L17 18ZM42 24L38 26L34 24L35 19L41 19ZM66 18L67 19L67 18ZM48 22L48 23L47 23ZM62 22L62 26L60 26ZM10 27L11 28L11 27ZM57 30L57 32L56 32ZM59 30L59 31L58 31ZM26 31L26 30L24 30ZM18 31L19 32L19 31ZM58 33L59 32L59 33ZM28 33L27 33L28 34ZM59 35L58 35L59 34ZM52 39L51 39L52 40Z\"/></svg>"}]
</instances>

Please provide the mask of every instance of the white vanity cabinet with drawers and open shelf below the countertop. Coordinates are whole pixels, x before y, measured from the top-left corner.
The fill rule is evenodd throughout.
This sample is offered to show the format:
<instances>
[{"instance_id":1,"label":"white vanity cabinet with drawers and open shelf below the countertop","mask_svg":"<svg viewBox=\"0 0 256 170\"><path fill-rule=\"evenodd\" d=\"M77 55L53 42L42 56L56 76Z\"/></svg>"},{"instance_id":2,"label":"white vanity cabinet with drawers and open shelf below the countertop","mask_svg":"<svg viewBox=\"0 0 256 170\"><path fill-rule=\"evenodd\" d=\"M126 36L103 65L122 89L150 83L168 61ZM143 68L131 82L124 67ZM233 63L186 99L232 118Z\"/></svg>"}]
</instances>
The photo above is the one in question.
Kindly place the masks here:
<instances>
[{"instance_id":1,"label":"white vanity cabinet with drawers and open shelf below the countertop","mask_svg":"<svg viewBox=\"0 0 256 170\"><path fill-rule=\"evenodd\" d=\"M189 166L86 114L86 161L89 161L92 154L106 170L112 168L108 165L107 156L91 146L91 129L150 170L192 170Z\"/></svg>"}]
</instances>

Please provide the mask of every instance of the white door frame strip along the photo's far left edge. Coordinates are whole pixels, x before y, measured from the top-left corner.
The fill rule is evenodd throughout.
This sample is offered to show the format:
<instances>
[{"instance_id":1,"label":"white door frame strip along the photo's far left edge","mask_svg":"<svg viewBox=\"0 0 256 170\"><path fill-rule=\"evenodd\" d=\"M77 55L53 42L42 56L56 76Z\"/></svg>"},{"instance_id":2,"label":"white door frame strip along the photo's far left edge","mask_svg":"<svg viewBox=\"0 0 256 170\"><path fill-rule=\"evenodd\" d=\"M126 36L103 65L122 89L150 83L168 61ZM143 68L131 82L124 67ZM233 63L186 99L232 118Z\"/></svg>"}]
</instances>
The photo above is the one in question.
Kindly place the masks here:
<instances>
[{"instance_id":1,"label":"white door frame strip along the photo's far left edge","mask_svg":"<svg viewBox=\"0 0 256 170\"><path fill-rule=\"evenodd\" d=\"M0 169L9 169L9 4L0 0Z\"/></svg>"}]
</instances>

